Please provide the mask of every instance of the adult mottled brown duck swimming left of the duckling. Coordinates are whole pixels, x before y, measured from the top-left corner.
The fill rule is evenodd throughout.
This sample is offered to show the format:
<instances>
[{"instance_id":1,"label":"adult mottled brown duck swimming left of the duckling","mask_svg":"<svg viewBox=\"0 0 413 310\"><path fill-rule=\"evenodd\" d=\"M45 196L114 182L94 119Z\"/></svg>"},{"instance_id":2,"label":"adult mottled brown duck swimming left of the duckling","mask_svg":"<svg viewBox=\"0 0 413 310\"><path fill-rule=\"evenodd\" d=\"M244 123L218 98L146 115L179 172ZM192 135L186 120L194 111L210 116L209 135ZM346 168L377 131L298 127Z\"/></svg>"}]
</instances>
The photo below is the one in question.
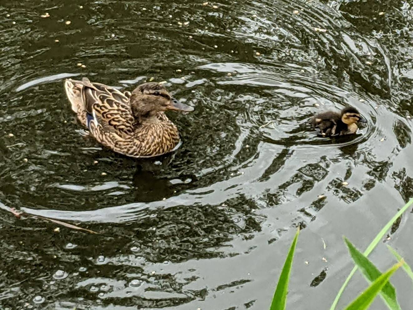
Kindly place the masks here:
<instances>
[{"instance_id":1,"label":"adult mottled brown duck swimming left of the duckling","mask_svg":"<svg viewBox=\"0 0 413 310\"><path fill-rule=\"evenodd\" d=\"M66 79L66 95L79 121L100 143L131 157L153 157L180 145L178 129L164 111L189 112L159 83L144 83L132 93L101 83Z\"/></svg>"}]
</instances>

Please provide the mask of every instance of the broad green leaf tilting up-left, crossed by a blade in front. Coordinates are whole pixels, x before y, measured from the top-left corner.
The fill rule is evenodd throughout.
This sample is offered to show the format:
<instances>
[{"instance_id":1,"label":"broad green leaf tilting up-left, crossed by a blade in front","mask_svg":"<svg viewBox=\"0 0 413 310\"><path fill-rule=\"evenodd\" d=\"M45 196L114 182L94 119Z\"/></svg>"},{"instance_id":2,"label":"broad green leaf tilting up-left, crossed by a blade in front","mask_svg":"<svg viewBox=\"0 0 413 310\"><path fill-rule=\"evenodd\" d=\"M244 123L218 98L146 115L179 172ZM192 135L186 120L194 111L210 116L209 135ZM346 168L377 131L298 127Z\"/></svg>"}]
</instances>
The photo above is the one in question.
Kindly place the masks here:
<instances>
[{"instance_id":1,"label":"broad green leaf tilting up-left, crossed by a blade in front","mask_svg":"<svg viewBox=\"0 0 413 310\"><path fill-rule=\"evenodd\" d=\"M349 248L351 258L353 258L354 262L356 263L356 266L360 269L360 271L363 273L363 275L366 277L366 279L368 279L370 283L381 276L382 273L380 272L380 270L377 269L376 266L372 262L370 262L368 258L366 258L366 256L364 256L360 251L358 251L356 247L349 241L349 239L344 237L344 241L346 242L347 247ZM394 286L390 284L390 282L387 282L385 286L383 286L383 289L380 292L380 294L387 303L389 309L401 310L399 303L397 303L396 290L394 289Z\"/></svg>"}]
</instances>

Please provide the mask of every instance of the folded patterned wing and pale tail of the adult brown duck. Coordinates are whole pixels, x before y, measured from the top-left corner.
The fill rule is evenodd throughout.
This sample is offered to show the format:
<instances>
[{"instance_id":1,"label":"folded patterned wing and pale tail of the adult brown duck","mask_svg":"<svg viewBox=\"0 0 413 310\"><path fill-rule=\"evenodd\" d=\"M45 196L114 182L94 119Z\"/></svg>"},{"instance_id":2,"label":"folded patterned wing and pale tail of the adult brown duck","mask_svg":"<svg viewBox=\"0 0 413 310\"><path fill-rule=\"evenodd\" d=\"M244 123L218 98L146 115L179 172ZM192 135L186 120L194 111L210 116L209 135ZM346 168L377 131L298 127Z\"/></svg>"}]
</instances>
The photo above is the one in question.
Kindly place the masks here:
<instances>
[{"instance_id":1,"label":"folded patterned wing and pale tail of the adult brown duck","mask_svg":"<svg viewBox=\"0 0 413 310\"><path fill-rule=\"evenodd\" d=\"M135 118L129 104L129 93L124 94L101 83L92 83L87 78L82 81L67 79L65 88L72 110L89 129L93 123L94 127L101 127L102 131L119 136L133 134Z\"/></svg>"}]
</instances>

